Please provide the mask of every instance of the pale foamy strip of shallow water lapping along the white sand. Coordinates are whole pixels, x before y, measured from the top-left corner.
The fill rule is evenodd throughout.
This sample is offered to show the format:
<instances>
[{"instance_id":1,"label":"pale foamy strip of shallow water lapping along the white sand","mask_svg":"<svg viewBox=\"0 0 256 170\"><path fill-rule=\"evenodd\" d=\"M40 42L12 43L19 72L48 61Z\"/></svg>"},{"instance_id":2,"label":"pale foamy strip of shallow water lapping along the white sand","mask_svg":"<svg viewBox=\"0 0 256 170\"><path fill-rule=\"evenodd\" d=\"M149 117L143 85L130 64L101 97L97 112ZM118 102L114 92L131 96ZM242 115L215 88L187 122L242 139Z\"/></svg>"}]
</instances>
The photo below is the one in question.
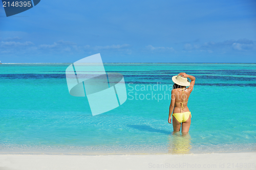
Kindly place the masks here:
<instances>
[{"instance_id":1,"label":"pale foamy strip of shallow water lapping along the white sand","mask_svg":"<svg viewBox=\"0 0 256 170\"><path fill-rule=\"evenodd\" d=\"M256 144L47 146L1 144L2 154L207 154L256 152Z\"/></svg>"}]
</instances>

